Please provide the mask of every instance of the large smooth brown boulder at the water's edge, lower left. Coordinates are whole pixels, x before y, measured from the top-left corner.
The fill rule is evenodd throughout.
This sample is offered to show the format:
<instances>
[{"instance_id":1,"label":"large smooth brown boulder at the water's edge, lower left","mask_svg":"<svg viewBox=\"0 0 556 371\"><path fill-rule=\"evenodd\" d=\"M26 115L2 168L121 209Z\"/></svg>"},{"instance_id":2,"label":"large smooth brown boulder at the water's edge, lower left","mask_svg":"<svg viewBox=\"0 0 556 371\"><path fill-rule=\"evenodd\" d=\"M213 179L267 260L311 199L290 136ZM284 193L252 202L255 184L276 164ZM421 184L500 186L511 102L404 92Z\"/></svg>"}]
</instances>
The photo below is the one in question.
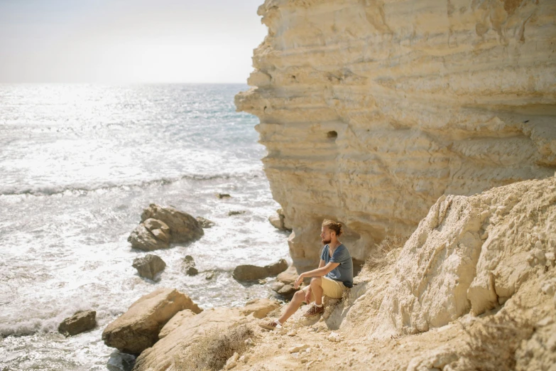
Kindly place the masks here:
<instances>
[{"instance_id":1,"label":"large smooth brown boulder at the water's edge, lower left","mask_svg":"<svg viewBox=\"0 0 556 371\"><path fill-rule=\"evenodd\" d=\"M131 304L128 311L110 323L102 332L102 340L121 352L139 354L158 340L160 329L175 313L202 310L189 296L175 289L158 289Z\"/></svg>"}]
</instances>

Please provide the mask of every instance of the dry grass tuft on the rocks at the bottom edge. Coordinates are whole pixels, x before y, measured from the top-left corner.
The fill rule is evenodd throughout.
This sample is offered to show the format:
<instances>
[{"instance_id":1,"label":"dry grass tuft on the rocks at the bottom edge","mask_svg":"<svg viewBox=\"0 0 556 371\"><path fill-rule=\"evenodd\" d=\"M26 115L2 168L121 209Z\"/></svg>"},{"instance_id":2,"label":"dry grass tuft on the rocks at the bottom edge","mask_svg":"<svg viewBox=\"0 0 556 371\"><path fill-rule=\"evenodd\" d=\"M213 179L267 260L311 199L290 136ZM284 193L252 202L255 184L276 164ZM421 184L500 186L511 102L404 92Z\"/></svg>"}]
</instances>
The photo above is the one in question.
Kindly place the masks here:
<instances>
[{"instance_id":1,"label":"dry grass tuft on the rocks at the bottom edge","mask_svg":"<svg viewBox=\"0 0 556 371\"><path fill-rule=\"evenodd\" d=\"M244 353L246 340L254 335L247 326L222 330L212 328L195 343L184 348L175 357L177 370L215 371L222 370L234 353Z\"/></svg>"}]
</instances>

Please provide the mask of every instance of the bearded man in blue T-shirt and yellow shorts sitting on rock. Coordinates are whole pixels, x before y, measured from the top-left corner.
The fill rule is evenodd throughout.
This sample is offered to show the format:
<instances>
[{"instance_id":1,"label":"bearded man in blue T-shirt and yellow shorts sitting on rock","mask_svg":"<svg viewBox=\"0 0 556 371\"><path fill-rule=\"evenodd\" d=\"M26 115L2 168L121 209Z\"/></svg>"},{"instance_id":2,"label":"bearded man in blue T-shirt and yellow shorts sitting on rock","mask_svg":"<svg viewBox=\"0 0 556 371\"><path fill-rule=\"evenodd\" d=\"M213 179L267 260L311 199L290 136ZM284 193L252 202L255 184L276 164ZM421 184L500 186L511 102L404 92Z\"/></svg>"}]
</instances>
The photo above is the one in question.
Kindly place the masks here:
<instances>
[{"instance_id":1,"label":"bearded man in blue T-shirt and yellow shorts sitting on rock","mask_svg":"<svg viewBox=\"0 0 556 371\"><path fill-rule=\"evenodd\" d=\"M353 286L354 267L347 247L339 242L342 235L342 224L332 220L322 222L320 238L325 247L320 254L320 264L317 269L306 271L295 280L294 288L297 289L305 277L312 277L310 286L297 291L292 301L288 304L283 315L275 321L263 321L259 326L273 330L283 326L285 321L297 311L302 303L315 303L304 314L306 317L317 316L324 313L322 295L330 298L342 298L344 291Z\"/></svg>"}]
</instances>

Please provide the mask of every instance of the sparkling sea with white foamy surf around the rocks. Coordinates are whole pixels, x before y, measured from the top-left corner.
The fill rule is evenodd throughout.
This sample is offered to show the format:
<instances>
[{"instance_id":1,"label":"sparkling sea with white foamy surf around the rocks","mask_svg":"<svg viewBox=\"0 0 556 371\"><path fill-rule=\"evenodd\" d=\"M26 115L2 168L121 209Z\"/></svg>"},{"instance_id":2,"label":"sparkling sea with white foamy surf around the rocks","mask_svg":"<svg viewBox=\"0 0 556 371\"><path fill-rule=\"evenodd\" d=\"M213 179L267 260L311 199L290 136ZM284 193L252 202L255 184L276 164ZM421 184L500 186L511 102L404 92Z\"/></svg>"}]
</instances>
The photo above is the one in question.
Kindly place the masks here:
<instances>
[{"instance_id":1,"label":"sparkling sea with white foamy surf around the rocks","mask_svg":"<svg viewBox=\"0 0 556 371\"><path fill-rule=\"evenodd\" d=\"M131 370L102 330L133 301L175 288L201 308L272 295L240 284L239 264L288 259L246 85L0 85L0 370ZM218 198L229 193L231 198ZM129 233L150 203L216 223L190 244L153 252L159 281L138 276ZM229 216L229 211L244 212ZM192 255L200 274L187 276ZM214 278L207 280L207 274ZM97 328L59 323L97 311Z\"/></svg>"}]
</instances>

